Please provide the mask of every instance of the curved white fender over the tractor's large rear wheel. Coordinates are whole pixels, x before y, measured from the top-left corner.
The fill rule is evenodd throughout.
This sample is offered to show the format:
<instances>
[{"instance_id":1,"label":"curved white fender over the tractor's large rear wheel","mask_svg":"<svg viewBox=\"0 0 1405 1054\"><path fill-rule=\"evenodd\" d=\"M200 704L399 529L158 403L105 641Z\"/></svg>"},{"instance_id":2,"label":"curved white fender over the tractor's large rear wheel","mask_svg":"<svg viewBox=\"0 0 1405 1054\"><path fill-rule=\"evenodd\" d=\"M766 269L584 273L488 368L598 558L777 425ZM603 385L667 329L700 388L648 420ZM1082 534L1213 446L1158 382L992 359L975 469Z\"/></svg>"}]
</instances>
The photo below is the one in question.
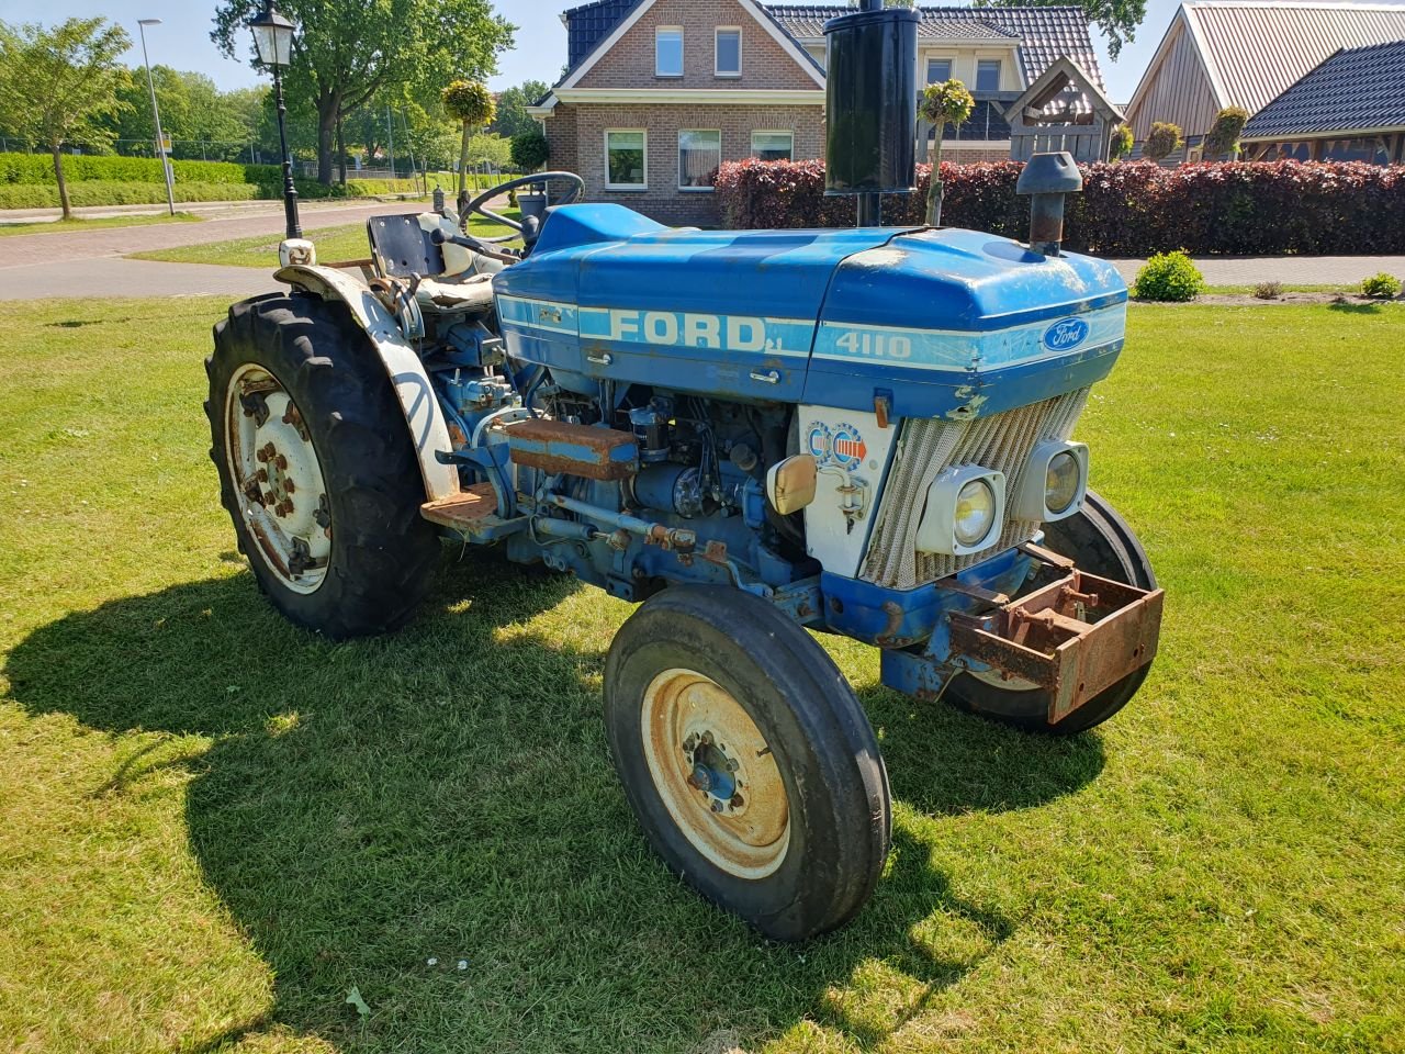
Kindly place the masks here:
<instances>
[{"instance_id":1,"label":"curved white fender over the tractor's large rear wheel","mask_svg":"<svg viewBox=\"0 0 1405 1054\"><path fill-rule=\"evenodd\" d=\"M351 318L371 339L386 377L395 385L405 424L414 441L420 475L424 478L426 500L440 502L459 493L458 468L438 458L440 453L450 454L454 450L448 423L430 385L430 375L400 332L395 315L365 285L334 267L292 264L274 277L325 301L341 301L347 305Z\"/></svg>"}]
</instances>

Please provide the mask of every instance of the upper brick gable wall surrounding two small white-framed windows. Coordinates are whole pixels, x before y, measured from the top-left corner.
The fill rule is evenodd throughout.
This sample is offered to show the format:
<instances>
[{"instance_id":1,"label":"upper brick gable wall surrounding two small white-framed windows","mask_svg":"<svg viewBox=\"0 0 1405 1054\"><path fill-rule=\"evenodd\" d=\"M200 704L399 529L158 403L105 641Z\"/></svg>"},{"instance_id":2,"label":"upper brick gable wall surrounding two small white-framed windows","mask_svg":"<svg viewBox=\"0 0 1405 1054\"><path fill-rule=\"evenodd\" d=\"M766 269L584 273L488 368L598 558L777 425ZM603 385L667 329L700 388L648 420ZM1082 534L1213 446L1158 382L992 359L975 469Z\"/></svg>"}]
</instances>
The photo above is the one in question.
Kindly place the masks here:
<instances>
[{"instance_id":1,"label":"upper brick gable wall surrounding two small white-framed windows","mask_svg":"<svg viewBox=\"0 0 1405 1054\"><path fill-rule=\"evenodd\" d=\"M681 77L653 73L653 34L660 25L683 27ZM714 73L719 25L742 30L740 77ZM815 79L736 0L656 0L575 87L819 90Z\"/></svg>"}]
</instances>

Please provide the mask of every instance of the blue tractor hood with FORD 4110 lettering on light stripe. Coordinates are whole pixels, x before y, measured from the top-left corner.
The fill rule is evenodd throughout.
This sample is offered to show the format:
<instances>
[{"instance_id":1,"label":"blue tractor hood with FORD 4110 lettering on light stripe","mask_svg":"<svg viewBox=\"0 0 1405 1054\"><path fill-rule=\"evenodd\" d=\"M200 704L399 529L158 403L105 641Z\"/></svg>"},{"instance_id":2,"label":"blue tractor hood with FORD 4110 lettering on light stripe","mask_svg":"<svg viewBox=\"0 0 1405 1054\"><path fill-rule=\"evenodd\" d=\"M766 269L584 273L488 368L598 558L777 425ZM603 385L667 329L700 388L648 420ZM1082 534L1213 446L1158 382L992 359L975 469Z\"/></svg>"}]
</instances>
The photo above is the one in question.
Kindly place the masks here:
<instances>
[{"instance_id":1,"label":"blue tractor hood with FORD 4110 lettering on light stripe","mask_svg":"<svg viewBox=\"0 0 1405 1054\"><path fill-rule=\"evenodd\" d=\"M974 230L672 229L551 214L493 280L513 354L568 386L652 384L894 416L984 416L1106 375L1127 288L1082 256Z\"/></svg>"}]
</instances>

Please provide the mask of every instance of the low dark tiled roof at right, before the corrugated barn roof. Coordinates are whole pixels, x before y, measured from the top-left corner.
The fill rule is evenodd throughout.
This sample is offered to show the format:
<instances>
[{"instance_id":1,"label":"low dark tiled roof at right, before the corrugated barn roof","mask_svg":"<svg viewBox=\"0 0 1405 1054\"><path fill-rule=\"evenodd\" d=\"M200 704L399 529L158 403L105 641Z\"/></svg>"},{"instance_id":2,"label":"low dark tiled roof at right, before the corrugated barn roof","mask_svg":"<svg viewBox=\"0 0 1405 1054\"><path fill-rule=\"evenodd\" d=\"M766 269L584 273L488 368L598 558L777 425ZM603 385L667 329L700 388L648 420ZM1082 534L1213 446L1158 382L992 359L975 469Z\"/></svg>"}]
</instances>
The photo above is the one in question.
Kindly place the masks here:
<instances>
[{"instance_id":1,"label":"low dark tiled roof at right, before the corrugated barn roof","mask_svg":"<svg viewBox=\"0 0 1405 1054\"><path fill-rule=\"evenodd\" d=\"M1245 139L1405 128L1405 39L1342 49L1269 103Z\"/></svg>"}]
</instances>

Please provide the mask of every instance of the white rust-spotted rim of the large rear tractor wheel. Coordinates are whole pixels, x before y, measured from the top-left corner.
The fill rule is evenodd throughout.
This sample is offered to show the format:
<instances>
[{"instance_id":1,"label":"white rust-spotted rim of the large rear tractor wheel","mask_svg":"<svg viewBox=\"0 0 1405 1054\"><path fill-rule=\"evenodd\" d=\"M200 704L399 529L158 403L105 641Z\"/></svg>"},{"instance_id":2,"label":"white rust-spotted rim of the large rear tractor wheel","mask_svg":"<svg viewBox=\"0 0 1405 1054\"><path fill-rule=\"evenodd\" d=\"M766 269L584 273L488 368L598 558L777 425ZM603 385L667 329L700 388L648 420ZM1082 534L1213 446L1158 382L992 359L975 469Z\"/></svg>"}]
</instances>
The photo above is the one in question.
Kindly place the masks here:
<instances>
[{"instance_id":1,"label":"white rust-spotted rim of the large rear tractor wheel","mask_svg":"<svg viewBox=\"0 0 1405 1054\"><path fill-rule=\"evenodd\" d=\"M225 457L264 565L292 592L315 593L332 557L322 465L298 406L261 367L242 365L229 378Z\"/></svg>"}]
</instances>

